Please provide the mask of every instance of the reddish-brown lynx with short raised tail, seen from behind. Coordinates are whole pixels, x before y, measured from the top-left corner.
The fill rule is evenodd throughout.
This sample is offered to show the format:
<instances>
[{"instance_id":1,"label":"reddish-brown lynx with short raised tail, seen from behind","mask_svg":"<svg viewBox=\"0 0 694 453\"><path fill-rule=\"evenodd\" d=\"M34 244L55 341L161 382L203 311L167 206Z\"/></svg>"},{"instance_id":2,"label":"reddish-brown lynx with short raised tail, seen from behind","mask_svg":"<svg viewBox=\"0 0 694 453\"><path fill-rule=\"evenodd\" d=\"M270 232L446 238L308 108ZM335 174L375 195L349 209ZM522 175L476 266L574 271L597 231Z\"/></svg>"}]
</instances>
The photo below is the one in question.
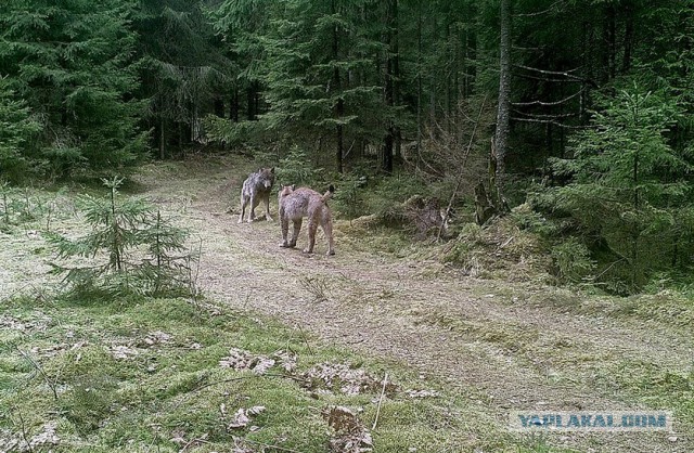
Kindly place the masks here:
<instances>
[{"instance_id":1,"label":"reddish-brown lynx with short raised tail, seen from behind","mask_svg":"<svg viewBox=\"0 0 694 453\"><path fill-rule=\"evenodd\" d=\"M282 244L280 247L296 247L296 238L301 229L301 220L308 218L308 247L304 249L305 254L313 253L316 244L316 231L320 224L327 238L327 253L325 255L335 255L335 244L333 242L333 220L330 216L330 207L327 199L335 192L332 185L321 195L318 192L299 187L294 190L293 185L283 185L278 194L280 205L280 222L282 224ZM292 238L286 240L290 232L290 220L294 223Z\"/></svg>"}]
</instances>

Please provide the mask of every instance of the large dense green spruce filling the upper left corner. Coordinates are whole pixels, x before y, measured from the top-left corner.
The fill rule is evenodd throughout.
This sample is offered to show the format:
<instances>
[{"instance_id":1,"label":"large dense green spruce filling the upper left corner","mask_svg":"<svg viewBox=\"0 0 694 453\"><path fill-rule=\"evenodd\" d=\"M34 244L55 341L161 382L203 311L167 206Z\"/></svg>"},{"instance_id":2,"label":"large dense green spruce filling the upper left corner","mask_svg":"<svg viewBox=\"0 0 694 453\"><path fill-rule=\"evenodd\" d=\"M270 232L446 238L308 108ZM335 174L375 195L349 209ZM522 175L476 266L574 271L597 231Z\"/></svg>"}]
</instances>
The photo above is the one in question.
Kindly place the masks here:
<instances>
[{"instance_id":1,"label":"large dense green spruce filling the upper left corner","mask_svg":"<svg viewBox=\"0 0 694 453\"><path fill-rule=\"evenodd\" d=\"M41 119L26 156L54 176L110 174L134 165L145 134L133 70L131 0L9 0L0 11L0 73Z\"/></svg>"}]
</instances>

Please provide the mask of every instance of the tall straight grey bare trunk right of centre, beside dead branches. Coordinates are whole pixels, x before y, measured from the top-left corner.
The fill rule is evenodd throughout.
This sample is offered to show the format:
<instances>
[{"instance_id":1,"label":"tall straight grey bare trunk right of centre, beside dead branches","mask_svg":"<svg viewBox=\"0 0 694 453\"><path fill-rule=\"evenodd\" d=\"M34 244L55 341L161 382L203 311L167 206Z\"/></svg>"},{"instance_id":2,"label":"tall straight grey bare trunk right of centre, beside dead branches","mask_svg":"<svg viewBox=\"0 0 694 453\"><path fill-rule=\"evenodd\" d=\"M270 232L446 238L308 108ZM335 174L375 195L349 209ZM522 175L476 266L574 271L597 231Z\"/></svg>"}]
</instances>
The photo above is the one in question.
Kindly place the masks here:
<instances>
[{"instance_id":1,"label":"tall straight grey bare trunk right of centre, beside dead branches","mask_svg":"<svg viewBox=\"0 0 694 453\"><path fill-rule=\"evenodd\" d=\"M511 134L511 0L501 0L501 40L499 43L499 106L494 152L497 159L496 185L499 197L503 194L505 179L505 157Z\"/></svg>"}]
</instances>

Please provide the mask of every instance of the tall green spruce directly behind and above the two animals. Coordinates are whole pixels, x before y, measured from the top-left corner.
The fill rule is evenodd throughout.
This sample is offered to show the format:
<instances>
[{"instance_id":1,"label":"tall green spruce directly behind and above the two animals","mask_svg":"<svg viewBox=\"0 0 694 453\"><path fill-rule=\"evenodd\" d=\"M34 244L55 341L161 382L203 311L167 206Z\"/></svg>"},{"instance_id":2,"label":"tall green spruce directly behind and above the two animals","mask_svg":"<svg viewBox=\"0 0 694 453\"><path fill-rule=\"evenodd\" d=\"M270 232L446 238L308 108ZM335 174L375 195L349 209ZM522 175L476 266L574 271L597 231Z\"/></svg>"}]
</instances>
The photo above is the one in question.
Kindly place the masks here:
<instances>
[{"instance_id":1,"label":"tall green spruce directly behind and above the two animals","mask_svg":"<svg viewBox=\"0 0 694 453\"><path fill-rule=\"evenodd\" d=\"M252 11L261 11L265 20L250 31L236 15L250 3L224 2L216 24L233 51L254 56L242 74L261 83L268 109L259 117L262 130L305 148L317 146L319 157L330 155L338 171L356 143L381 143L401 112L383 99L380 64L386 49L380 42L378 7L363 0L256 5Z\"/></svg>"}]
</instances>

